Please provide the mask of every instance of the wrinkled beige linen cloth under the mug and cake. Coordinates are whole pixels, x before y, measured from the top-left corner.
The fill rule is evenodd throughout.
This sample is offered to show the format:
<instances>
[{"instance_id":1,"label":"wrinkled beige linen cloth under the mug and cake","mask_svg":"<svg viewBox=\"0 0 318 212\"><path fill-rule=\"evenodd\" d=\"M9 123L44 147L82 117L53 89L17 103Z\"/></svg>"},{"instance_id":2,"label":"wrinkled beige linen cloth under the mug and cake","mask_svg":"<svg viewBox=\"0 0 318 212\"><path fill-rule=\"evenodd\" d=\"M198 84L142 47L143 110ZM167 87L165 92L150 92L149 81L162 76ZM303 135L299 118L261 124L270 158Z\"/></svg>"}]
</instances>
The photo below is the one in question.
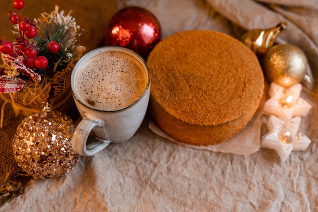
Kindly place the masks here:
<instances>
[{"instance_id":1,"label":"wrinkled beige linen cloth under the mug and cake","mask_svg":"<svg viewBox=\"0 0 318 212\"><path fill-rule=\"evenodd\" d=\"M315 0L131 0L118 8L133 5L157 16L164 37L188 29L238 36L288 20L280 40L306 52L317 78ZM129 141L82 157L66 177L35 181L0 211L317 211L318 100L306 99L313 109L302 129L312 143L285 163L270 149L241 156L177 145L151 132L146 117Z\"/></svg>"}]
</instances>

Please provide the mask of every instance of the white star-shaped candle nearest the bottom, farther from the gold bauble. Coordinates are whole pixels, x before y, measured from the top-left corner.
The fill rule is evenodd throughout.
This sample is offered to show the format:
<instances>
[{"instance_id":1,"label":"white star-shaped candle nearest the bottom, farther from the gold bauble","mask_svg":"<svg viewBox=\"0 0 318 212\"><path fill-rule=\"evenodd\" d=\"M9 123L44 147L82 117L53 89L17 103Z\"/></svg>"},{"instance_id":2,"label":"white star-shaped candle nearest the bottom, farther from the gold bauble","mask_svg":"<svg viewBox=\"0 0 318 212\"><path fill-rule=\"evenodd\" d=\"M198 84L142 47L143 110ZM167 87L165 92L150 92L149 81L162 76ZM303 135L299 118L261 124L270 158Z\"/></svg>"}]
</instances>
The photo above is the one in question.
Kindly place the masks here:
<instances>
[{"instance_id":1,"label":"white star-shaped candle nearest the bottom, farther from the gold bauble","mask_svg":"<svg viewBox=\"0 0 318 212\"><path fill-rule=\"evenodd\" d=\"M270 115L267 123L269 133L262 137L261 147L275 149L282 162L293 151L303 151L310 144L310 139L298 132L301 118L294 117L288 122Z\"/></svg>"}]
</instances>

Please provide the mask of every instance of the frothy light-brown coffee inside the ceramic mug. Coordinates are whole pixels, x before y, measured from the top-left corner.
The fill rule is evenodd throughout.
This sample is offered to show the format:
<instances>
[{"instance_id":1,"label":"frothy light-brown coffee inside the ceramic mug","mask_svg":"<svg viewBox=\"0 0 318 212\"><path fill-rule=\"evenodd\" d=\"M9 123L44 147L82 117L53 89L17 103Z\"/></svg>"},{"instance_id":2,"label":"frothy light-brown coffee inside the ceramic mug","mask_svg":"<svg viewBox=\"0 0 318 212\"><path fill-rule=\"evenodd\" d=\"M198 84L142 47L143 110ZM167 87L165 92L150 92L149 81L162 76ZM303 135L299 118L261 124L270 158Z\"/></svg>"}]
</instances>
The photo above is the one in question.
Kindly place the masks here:
<instances>
[{"instance_id":1,"label":"frothy light-brown coffee inside the ceramic mug","mask_svg":"<svg viewBox=\"0 0 318 212\"><path fill-rule=\"evenodd\" d=\"M75 77L81 102L98 110L118 110L138 100L147 87L148 76L132 55L106 51L90 58Z\"/></svg>"}]
</instances>

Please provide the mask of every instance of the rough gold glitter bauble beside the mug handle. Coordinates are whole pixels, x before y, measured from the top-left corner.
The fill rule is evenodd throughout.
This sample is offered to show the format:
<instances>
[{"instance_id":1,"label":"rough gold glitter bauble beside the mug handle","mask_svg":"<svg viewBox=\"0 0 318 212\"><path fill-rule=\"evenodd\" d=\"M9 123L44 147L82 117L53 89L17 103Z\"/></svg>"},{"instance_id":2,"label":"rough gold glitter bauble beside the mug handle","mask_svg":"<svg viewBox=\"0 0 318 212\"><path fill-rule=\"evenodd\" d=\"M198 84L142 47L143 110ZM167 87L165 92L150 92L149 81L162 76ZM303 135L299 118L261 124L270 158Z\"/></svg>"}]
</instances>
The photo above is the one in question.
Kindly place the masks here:
<instances>
[{"instance_id":1,"label":"rough gold glitter bauble beside the mug handle","mask_svg":"<svg viewBox=\"0 0 318 212\"><path fill-rule=\"evenodd\" d=\"M66 175L79 160L71 144L74 130L72 119L60 112L24 118L13 139L15 160L34 178Z\"/></svg>"}]
</instances>

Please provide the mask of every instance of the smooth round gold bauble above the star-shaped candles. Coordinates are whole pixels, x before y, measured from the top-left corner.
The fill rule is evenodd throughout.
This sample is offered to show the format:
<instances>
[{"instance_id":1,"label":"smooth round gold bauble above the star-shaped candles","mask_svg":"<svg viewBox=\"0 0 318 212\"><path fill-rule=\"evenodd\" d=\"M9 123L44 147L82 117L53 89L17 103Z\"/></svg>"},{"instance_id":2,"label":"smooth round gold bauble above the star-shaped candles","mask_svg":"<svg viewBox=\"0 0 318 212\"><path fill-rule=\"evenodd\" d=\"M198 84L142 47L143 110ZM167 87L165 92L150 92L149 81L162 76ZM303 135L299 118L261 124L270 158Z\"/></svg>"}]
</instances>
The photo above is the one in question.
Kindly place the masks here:
<instances>
[{"instance_id":1,"label":"smooth round gold bauble above the star-shaped candles","mask_svg":"<svg viewBox=\"0 0 318 212\"><path fill-rule=\"evenodd\" d=\"M279 44L268 50L264 58L264 74L269 82L290 87L300 82L307 69L305 53L298 47Z\"/></svg>"}]
</instances>

